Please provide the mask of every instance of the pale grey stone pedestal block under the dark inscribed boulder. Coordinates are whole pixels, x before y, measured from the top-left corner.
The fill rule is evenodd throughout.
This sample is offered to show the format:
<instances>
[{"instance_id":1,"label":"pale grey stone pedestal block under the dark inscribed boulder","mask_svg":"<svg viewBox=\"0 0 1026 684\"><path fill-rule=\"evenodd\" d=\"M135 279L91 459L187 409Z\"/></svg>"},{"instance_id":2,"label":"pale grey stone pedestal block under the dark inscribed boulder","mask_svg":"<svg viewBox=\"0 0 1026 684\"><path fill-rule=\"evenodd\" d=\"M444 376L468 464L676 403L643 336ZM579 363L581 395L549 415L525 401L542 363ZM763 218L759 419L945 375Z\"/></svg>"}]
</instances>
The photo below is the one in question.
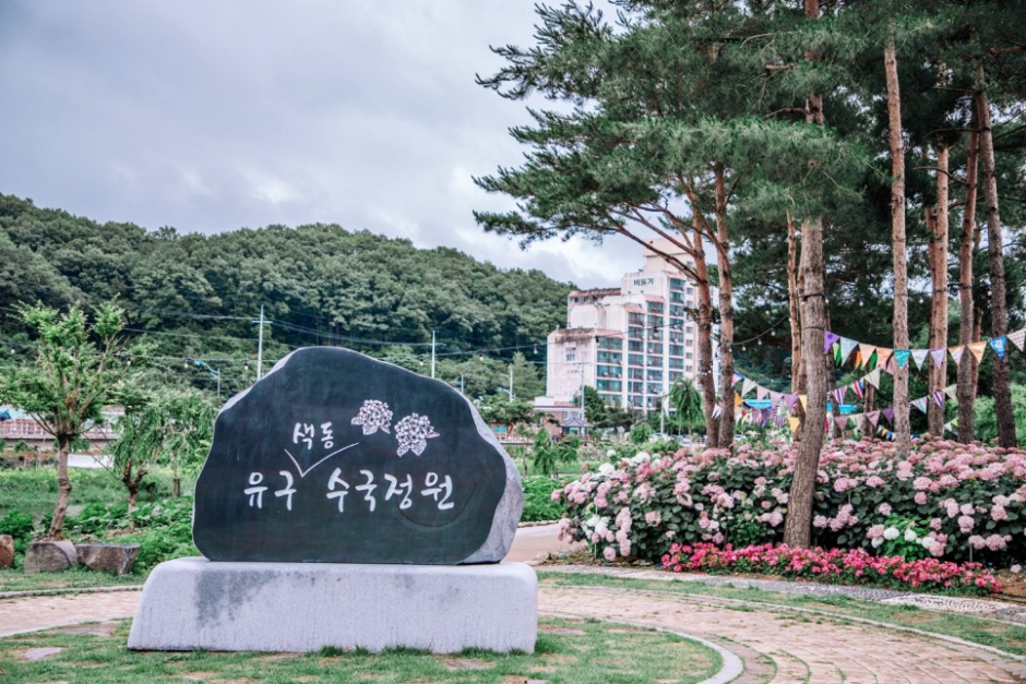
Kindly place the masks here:
<instances>
[{"instance_id":1,"label":"pale grey stone pedestal block under the dark inscribed boulder","mask_svg":"<svg viewBox=\"0 0 1026 684\"><path fill-rule=\"evenodd\" d=\"M538 580L520 563L162 563L129 648L313 651L324 646L532 652Z\"/></svg>"}]
</instances>

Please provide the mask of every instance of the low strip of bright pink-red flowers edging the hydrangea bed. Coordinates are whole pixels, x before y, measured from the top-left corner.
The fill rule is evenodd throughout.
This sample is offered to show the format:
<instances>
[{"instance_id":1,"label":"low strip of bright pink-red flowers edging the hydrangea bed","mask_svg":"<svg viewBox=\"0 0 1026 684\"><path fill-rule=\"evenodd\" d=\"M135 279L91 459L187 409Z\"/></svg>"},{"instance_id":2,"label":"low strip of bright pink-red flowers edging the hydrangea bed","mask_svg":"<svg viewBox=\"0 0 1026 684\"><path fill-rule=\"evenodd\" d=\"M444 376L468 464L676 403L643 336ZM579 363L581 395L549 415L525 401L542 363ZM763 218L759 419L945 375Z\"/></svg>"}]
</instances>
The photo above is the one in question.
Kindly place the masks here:
<instances>
[{"instance_id":1,"label":"low strip of bright pink-red flowers edging the hydrangea bed","mask_svg":"<svg viewBox=\"0 0 1026 684\"><path fill-rule=\"evenodd\" d=\"M757 573L801 577L846 585L868 584L899 589L992 593L1000 586L979 563L950 563L936 559L906 561L900 556L871 555L863 549L789 549L785 545L719 549L709 543L670 545L663 566L675 573Z\"/></svg>"}]
</instances>

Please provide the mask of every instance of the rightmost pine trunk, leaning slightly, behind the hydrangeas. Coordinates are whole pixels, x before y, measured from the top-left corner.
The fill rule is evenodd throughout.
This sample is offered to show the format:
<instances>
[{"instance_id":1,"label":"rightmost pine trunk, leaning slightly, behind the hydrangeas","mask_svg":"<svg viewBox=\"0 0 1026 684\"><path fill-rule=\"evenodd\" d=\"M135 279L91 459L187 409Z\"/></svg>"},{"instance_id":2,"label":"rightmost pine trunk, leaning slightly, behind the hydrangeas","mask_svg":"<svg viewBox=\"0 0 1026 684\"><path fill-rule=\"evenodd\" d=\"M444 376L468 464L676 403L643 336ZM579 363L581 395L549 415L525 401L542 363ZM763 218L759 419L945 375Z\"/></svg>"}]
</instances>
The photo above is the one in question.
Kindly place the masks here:
<instances>
[{"instance_id":1,"label":"rightmost pine trunk, leaning slightly, behind the hydrangeas","mask_svg":"<svg viewBox=\"0 0 1026 684\"><path fill-rule=\"evenodd\" d=\"M983 67L977 64L979 91L976 92L976 116L980 123L980 157L983 163L983 216L987 218L987 243L990 256L990 334L1003 337L1009 331L1009 311L1004 283L1004 238L998 206L998 173L994 164L994 139L990 123L990 103L982 89ZM994 355L994 413L998 417L998 443L1005 448L1017 445L1015 416L1012 413L1012 379L1007 355Z\"/></svg>"}]
</instances>

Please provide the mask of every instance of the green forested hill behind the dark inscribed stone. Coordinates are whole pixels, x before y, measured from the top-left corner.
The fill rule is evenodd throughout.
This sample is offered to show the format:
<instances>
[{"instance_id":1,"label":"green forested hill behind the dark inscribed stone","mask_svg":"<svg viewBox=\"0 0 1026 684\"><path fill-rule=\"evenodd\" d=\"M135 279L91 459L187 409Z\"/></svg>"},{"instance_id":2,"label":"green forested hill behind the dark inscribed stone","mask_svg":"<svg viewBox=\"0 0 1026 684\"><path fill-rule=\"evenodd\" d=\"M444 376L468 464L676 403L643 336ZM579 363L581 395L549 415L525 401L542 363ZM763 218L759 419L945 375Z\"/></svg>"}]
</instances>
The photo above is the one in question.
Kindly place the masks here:
<instances>
[{"instance_id":1,"label":"green forested hill behind the dark inscribed stone","mask_svg":"<svg viewBox=\"0 0 1026 684\"><path fill-rule=\"evenodd\" d=\"M220 367L226 391L252 374L253 320L263 304L273 321L264 328L270 361L335 344L419 367L436 331L445 355L439 376L464 375L468 395L490 394L517 348L525 373L544 371L533 361L544 360L546 335L564 325L570 287L538 271L502 271L453 249L420 250L336 225L146 232L0 194L0 341L9 350L31 349L12 312L19 302L64 308L117 297L157 368L208 361ZM537 389L537 377L524 381Z\"/></svg>"}]
</instances>

